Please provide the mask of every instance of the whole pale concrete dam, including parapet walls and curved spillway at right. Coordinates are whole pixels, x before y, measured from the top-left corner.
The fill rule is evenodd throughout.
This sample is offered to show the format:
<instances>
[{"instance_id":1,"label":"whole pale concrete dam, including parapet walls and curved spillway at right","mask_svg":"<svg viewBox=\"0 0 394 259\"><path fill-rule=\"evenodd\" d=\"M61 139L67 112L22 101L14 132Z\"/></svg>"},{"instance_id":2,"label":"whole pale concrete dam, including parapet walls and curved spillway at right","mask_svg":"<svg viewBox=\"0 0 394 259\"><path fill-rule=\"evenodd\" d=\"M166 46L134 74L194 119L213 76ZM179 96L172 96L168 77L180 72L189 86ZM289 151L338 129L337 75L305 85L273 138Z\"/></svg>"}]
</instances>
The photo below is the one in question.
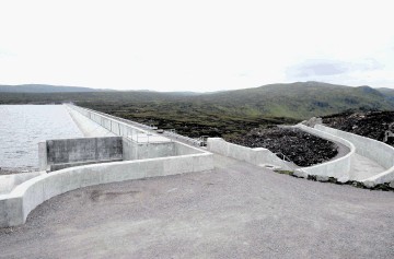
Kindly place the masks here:
<instances>
[{"instance_id":1,"label":"whole pale concrete dam, including parapet walls and curved spillway at right","mask_svg":"<svg viewBox=\"0 0 394 259\"><path fill-rule=\"evenodd\" d=\"M88 138L43 141L38 144L39 173L1 176L0 226L23 224L30 212L45 200L78 188L212 170L215 155L260 168L290 170L301 178L359 183L366 188L379 185L390 188L394 180L392 146L321 125L294 127L339 142L349 148L349 153L318 165L293 168L267 149L240 146L220 138L209 138L202 148L197 140L170 132L157 133L149 126L71 104L65 107ZM367 166L368 174L357 173L360 157L375 161L376 172L370 174Z\"/></svg>"}]
</instances>

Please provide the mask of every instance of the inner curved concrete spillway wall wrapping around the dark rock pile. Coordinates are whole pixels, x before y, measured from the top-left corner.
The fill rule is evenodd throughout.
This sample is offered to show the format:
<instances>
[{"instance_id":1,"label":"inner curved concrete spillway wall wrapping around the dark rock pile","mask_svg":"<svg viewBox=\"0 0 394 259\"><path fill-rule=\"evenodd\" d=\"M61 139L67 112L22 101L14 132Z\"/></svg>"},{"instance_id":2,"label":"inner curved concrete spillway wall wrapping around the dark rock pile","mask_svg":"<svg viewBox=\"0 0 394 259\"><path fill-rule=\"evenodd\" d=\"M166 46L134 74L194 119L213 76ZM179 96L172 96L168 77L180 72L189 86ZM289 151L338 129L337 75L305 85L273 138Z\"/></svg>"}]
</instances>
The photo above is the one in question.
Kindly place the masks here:
<instances>
[{"instance_id":1,"label":"inner curved concrete spillway wall wrapping around the dark rock pile","mask_svg":"<svg viewBox=\"0 0 394 259\"><path fill-rule=\"evenodd\" d=\"M305 132L317 136L322 139L339 142L350 149L350 152L343 157L339 157L334 161L328 161L323 164L303 167L302 168L303 172L306 172L309 175L320 175L320 176L328 176L335 178L343 178L343 177L349 178L351 163L356 152L356 148L351 142L304 125L297 125L294 128L299 128Z\"/></svg>"}]
</instances>

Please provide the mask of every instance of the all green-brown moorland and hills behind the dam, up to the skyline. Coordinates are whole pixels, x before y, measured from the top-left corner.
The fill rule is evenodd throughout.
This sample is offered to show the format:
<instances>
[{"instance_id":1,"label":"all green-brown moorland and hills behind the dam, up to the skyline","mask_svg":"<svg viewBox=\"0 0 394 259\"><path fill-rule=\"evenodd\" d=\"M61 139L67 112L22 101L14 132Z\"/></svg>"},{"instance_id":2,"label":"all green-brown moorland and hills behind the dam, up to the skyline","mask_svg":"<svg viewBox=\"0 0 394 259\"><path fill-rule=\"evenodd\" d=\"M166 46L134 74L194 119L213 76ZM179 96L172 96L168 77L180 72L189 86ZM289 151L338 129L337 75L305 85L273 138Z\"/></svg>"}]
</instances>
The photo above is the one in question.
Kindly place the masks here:
<instances>
[{"instance_id":1,"label":"all green-brown moorland and hills behind the dam, up to the skyline","mask_svg":"<svg viewBox=\"0 0 394 259\"><path fill-rule=\"evenodd\" d=\"M150 91L85 93L0 93L0 104L73 102L179 133L231 139L256 127L293 123L344 110L394 110L391 91L320 82L270 84L218 93Z\"/></svg>"}]
</instances>

